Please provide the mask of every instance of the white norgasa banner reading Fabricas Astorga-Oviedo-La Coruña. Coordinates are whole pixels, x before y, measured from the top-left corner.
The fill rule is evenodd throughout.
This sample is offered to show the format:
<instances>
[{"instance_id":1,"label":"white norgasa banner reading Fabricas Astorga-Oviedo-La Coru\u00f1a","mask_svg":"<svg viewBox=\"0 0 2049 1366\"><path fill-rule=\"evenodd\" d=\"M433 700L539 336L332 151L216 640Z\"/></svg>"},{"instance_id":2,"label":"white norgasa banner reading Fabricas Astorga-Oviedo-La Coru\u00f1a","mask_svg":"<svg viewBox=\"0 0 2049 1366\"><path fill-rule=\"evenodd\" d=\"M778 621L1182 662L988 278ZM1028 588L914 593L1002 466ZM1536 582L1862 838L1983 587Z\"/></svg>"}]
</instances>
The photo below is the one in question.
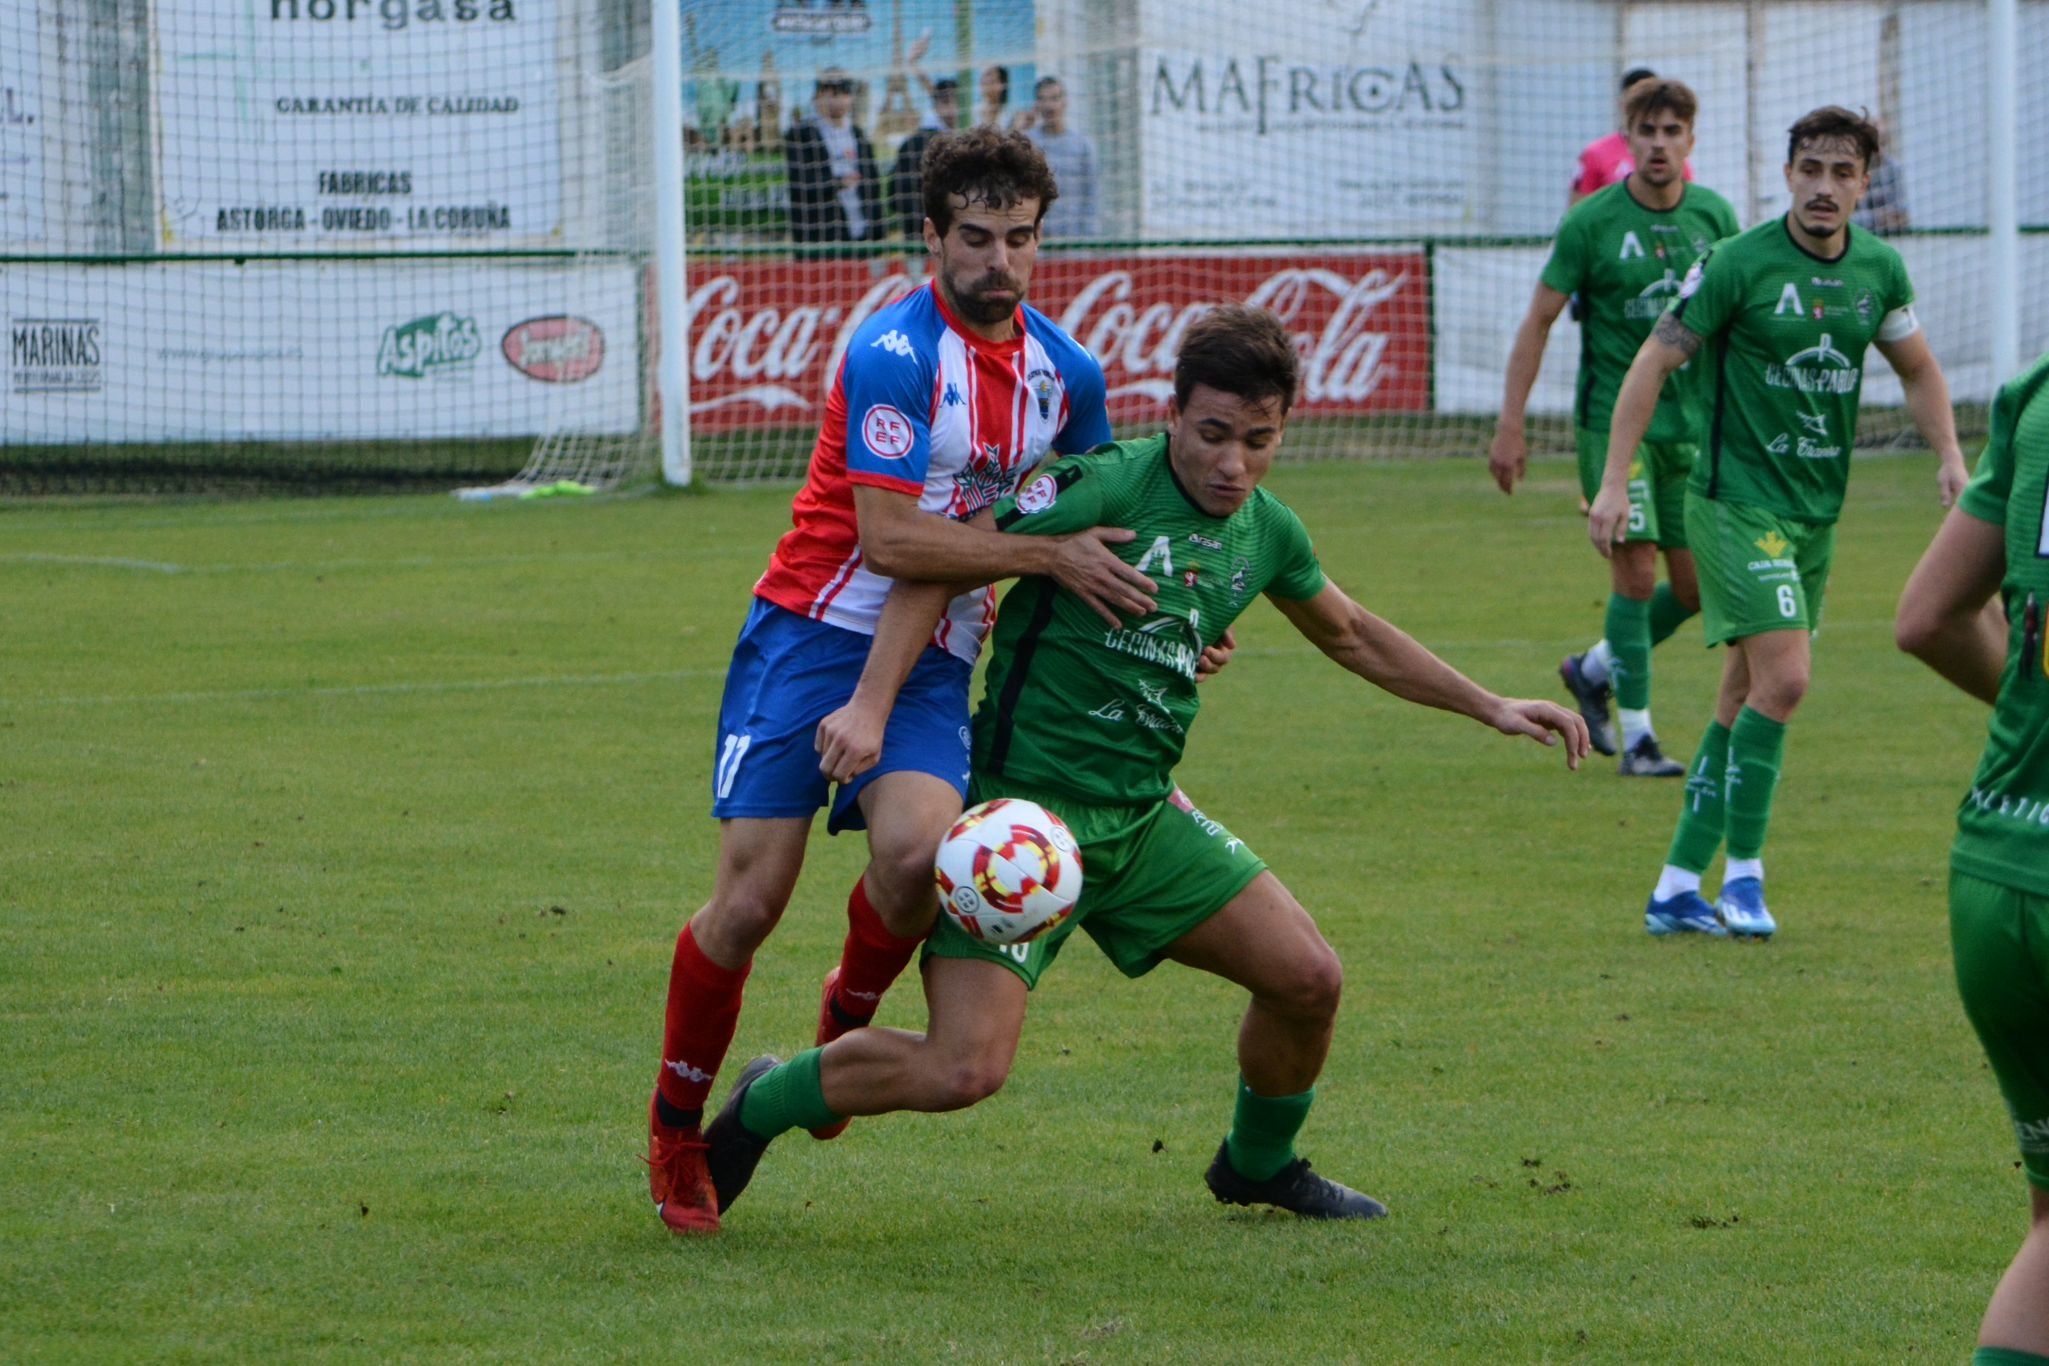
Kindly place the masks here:
<instances>
[{"instance_id":1,"label":"white norgasa banner reading Fabricas Astorga-Oviedo-La Coru\u00f1a","mask_svg":"<svg viewBox=\"0 0 2049 1366\"><path fill-rule=\"evenodd\" d=\"M158 0L164 246L547 240L555 25L557 0Z\"/></svg>"}]
</instances>

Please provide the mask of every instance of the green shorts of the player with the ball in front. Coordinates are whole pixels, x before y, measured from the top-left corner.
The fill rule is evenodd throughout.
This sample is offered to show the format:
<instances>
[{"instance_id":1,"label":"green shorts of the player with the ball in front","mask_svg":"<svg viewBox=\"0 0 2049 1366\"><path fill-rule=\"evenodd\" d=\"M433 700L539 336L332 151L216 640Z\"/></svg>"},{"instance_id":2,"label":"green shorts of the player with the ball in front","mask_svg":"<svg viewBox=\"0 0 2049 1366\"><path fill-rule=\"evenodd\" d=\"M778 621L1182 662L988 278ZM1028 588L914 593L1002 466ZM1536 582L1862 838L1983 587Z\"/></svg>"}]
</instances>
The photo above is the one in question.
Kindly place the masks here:
<instances>
[{"instance_id":1,"label":"green shorts of the player with the ball in front","mask_svg":"<svg viewBox=\"0 0 2049 1366\"><path fill-rule=\"evenodd\" d=\"M924 952L1002 963L1027 987L1039 985L1039 975L1076 928L1088 930L1119 973L1143 977L1160 965L1168 944L1229 905L1266 868L1180 788L1160 803L1092 807L1006 778L984 782L977 774L967 801L992 797L1027 797L1068 821L1082 844L1082 901L1074 915L1029 944L986 944L940 915Z\"/></svg>"}]
</instances>

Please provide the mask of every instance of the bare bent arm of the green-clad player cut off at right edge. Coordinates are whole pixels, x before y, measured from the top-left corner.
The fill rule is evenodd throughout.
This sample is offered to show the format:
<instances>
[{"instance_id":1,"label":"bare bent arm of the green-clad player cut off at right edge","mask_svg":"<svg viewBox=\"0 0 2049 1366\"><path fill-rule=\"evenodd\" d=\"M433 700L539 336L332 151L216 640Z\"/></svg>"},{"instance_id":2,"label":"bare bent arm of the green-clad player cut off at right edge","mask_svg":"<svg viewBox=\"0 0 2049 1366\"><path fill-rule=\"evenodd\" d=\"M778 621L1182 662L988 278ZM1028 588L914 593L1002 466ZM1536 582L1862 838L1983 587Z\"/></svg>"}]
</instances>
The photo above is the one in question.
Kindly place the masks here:
<instances>
[{"instance_id":1,"label":"bare bent arm of the green-clad player cut off at right edge","mask_svg":"<svg viewBox=\"0 0 2049 1366\"><path fill-rule=\"evenodd\" d=\"M1893 641L1981 702L2000 696L2006 612L1992 596L2006 571L2006 528L1951 508L1914 565Z\"/></svg>"}]
</instances>

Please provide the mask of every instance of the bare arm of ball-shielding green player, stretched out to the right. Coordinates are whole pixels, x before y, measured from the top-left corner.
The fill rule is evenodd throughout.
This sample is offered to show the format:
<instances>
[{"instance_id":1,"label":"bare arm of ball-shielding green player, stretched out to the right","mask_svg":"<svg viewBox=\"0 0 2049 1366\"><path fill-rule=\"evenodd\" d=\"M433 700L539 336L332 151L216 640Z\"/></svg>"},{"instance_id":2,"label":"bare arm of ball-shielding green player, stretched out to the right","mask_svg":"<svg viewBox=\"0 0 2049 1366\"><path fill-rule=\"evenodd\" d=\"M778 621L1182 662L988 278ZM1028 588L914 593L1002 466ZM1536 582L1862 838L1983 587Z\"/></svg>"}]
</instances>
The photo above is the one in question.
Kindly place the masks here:
<instances>
[{"instance_id":1,"label":"bare arm of ball-shielding green player, stretched out to the right","mask_svg":"<svg viewBox=\"0 0 2049 1366\"><path fill-rule=\"evenodd\" d=\"M1313 598L1274 598L1281 614L1326 655L1395 696L1455 711L1498 729L1529 735L1539 743L1565 739L1565 766L1578 768L1588 752L1586 721L1553 702L1506 698L1488 692L1451 668L1412 635L1352 602L1342 588L1326 582Z\"/></svg>"}]
</instances>

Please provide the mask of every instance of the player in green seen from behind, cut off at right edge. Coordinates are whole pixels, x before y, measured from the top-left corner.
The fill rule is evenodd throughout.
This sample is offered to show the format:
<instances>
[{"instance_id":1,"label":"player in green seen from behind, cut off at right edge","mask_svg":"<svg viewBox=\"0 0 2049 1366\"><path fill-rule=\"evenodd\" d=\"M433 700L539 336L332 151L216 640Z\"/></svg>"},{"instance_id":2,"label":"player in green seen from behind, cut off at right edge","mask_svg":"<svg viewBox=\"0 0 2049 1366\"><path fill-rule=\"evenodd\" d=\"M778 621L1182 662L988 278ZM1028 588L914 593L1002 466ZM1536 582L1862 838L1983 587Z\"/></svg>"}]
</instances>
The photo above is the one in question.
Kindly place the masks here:
<instances>
[{"instance_id":1,"label":"player in green seen from behind, cut off at right edge","mask_svg":"<svg viewBox=\"0 0 2049 1366\"><path fill-rule=\"evenodd\" d=\"M1998 600L1994 600L1998 594ZM2049 1362L2049 356L2000 389L1977 475L1899 598L1899 647L1992 729L1957 809L1957 989L2006 1098L2031 1225L1977 1333L1977 1366Z\"/></svg>"}]
</instances>

